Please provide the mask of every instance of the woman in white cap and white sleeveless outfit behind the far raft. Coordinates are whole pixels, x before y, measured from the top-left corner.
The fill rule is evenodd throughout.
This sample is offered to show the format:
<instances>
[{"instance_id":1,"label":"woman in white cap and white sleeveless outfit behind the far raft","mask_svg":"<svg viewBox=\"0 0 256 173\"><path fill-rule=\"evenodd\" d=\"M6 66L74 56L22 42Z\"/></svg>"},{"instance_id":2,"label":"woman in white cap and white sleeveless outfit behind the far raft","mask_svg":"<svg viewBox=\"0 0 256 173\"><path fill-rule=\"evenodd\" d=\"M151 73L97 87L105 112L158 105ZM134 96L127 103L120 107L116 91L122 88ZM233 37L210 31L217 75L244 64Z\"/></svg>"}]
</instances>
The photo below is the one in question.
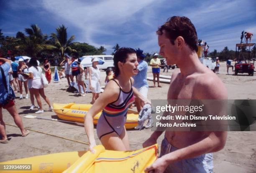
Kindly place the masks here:
<instances>
[{"instance_id":1,"label":"woman in white cap and white sleeveless outfit behind the far raft","mask_svg":"<svg viewBox=\"0 0 256 173\"><path fill-rule=\"evenodd\" d=\"M99 64L99 59L92 59L92 66L89 68L89 82L90 90L92 91L92 102L94 104L95 100L100 95L100 70L97 67Z\"/></svg>"}]
</instances>

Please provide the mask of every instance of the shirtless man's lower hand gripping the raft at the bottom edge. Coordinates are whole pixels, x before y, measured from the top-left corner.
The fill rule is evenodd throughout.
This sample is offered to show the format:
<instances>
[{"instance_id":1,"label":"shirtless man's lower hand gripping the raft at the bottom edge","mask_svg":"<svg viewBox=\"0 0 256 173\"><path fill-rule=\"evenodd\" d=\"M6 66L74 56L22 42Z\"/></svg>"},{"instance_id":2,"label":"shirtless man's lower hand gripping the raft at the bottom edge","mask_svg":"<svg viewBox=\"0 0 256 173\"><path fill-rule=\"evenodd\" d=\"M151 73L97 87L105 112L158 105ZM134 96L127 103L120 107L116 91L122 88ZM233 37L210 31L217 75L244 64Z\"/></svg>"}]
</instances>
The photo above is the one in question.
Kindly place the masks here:
<instances>
[{"instance_id":1,"label":"shirtless man's lower hand gripping the raft at the bottom edge","mask_svg":"<svg viewBox=\"0 0 256 173\"><path fill-rule=\"evenodd\" d=\"M148 166L145 169L145 172L148 171L148 173L163 173L167 166L168 163L163 157L161 157L156 159L156 161L152 165Z\"/></svg>"}]
</instances>

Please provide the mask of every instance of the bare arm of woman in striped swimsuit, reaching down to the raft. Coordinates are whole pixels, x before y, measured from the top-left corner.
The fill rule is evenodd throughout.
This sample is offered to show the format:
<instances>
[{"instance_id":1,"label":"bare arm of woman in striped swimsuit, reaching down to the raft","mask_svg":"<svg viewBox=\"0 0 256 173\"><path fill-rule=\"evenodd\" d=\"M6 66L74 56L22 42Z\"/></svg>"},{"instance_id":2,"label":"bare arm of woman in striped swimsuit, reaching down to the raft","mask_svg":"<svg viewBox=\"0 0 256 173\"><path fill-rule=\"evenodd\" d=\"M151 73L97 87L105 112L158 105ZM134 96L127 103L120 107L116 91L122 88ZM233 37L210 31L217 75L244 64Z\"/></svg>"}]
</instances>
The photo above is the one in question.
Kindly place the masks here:
<instances>
[{"instance_id":1,"label":"bare arm of woman in striped swimsuit, reaching down to the raft","mask_svg":"<svg viewBox=\"0 0 256 173\"><path fill-rule=\"evenodd\" d=\"M96 146L93 132L93 117L95 117L95 115L99 113L109 103L114 102L116 99L118 99L118 96L119 89L113 81L110 83L110 85L105 87L104 92L100 94L100 97L95 101L95 104L92 105L90 110L84 116L84 129L90 143L89 149L92 153L94 152L93 148Z\"/></svg>"}]
</instances>

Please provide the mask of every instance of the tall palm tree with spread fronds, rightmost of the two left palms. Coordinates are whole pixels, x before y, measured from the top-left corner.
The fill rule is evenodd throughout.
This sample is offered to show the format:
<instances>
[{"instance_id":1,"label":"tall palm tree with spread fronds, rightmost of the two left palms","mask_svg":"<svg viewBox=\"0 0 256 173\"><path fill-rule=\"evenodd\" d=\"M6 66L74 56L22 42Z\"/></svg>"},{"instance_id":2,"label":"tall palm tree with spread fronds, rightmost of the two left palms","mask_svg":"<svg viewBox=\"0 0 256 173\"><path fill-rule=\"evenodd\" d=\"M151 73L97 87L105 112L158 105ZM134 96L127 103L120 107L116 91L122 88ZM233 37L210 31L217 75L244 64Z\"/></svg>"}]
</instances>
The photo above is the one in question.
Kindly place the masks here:
<instances>
[{"instance_id":1,"label":"tall palm tree with spread fronds, rightmost of the two left palms","mask_svg":"<svg viewBox=\"0 0 256 173\"><path fill-rule=\"evenodd\" d=\"M57 48L57 51L60 53L61 58L64 57L64 53L76 52L76 50L70 47L72 41L75 39L75 36L71 36L67 39L67 28L64 25L56 28L57 33L51 33L51 38L53 38L54 45Z\"/></svg>"}]
</instances>

